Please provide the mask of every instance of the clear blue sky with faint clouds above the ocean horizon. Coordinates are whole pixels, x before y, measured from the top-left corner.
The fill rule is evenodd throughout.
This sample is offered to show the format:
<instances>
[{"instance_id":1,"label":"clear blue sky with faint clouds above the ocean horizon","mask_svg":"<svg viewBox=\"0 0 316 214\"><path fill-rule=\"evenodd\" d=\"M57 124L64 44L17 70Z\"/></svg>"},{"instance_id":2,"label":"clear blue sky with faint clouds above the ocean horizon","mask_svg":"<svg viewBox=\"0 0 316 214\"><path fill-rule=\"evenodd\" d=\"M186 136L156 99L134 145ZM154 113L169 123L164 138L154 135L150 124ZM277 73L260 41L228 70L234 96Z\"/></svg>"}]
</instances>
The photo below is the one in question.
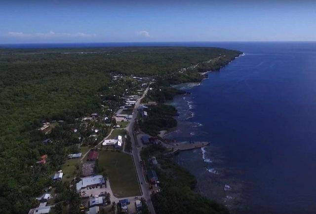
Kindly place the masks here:
<instances>
[{"instance_id":1,"label":"clear blue sky with faint clouds above the ocean horizon","mask_svg":"<svg viewBox=\"0 0 316 214\"><path fill-rule=\"evenodd\" d=\"M0 43L315 41L312 0L0 0Z\"/></svg>"}]
</instances>

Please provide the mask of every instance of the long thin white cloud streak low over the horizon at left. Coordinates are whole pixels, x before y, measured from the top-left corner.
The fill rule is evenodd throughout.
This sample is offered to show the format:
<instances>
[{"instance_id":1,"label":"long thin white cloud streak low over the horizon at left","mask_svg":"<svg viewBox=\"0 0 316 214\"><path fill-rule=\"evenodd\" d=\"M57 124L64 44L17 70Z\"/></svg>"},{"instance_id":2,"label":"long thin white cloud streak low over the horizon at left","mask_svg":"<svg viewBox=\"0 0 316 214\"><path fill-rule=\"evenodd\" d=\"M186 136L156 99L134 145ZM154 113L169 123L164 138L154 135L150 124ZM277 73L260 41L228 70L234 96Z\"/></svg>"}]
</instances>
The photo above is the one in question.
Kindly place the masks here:
<instances>
[{"instance_id":1,"label":"long thin white cloud streak low over the horizon at left","mask_svg":"<svg viewBox=\"0 0 316 214\"><path fill-rule=\"evenodd\" d=\"M61 38L61 37L92 37L96 36L95 34L84 34L84 33L55 33L55 32L48 32L48 33L34 33L34 34L26 34L22 32L8 32L7 36L12 37L20 37L20 38Z\"/></svg>"}]
</instances>

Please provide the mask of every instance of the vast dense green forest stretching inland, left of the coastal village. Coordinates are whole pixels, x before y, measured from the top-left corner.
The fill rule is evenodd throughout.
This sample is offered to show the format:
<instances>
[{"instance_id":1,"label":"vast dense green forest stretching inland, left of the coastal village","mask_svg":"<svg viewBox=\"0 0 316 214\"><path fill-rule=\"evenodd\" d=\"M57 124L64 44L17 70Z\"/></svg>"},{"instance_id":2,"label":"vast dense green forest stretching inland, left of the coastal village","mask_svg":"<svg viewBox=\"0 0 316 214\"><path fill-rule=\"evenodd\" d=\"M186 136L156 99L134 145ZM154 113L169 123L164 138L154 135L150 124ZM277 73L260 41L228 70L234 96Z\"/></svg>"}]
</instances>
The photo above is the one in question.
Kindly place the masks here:
<instances>
[{"instance_id":1,"label":"vast dense green forest stretching inland, left of the coastal village","mask_svg":"<svg viewBox=\"0 0 316 214\"><path fill-rule=\"evenodd\" d=\"M112 74L153 76L168 85L200 79L203 68L193 67L200 62L218 70L240 53L186 47L0 49L0 213L27 213L61 164L36 165L47 151L36 131L40 121L70 123L98 112L104 97L128 88ZM178 72L182 68L189 69ZM49 160L64 157L63 142L51 145Z\"/></svg>"}]
</instances>

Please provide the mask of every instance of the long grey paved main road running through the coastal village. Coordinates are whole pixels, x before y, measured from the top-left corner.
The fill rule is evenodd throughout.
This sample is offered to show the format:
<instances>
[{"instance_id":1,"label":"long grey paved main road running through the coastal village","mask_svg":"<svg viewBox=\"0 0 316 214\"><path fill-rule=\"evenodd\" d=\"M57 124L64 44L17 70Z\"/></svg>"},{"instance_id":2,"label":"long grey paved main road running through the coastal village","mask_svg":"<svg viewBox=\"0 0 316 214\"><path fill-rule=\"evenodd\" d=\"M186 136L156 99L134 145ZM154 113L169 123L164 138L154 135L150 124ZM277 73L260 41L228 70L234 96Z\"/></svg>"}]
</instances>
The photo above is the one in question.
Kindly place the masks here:
<instances>
[{"instance_id":1,"label":"long grey paved main road running through the coastal village","mask_svg":"<svg viewBox=\"0 0 316 214\"><path fill-rule=\"evenodd\" d=\"M140 101L145 97L148 90L149 90L149 88L147 88L144 91L143 96L137 100L137 102L135 104L135 108L133 110L133 118L131 119L131 121L129 122L128 126L125 129L127 130L128 134L130 136L131 143L132 143L132 154L134 157L134 165L136 167L136 173L138 175L139 182L143 183L143 184L140 184L141 189L142 189L142 193L143 193L142 197L146 199L146 203L148 205L149 212L151 214L155 214L155 209L154 209L152 200L150 198L150 190L147 189L146 179L145 179L144 173L143 173L143 168L142 168L142 165L140 164L140 160L141 160L140 155L139 155L140 151L137 149L137 146L135 144L134 132L133 132L134 124L135 124L136 118L137 118L137 109L140 105Z\"/></svg>"}]
</instances>

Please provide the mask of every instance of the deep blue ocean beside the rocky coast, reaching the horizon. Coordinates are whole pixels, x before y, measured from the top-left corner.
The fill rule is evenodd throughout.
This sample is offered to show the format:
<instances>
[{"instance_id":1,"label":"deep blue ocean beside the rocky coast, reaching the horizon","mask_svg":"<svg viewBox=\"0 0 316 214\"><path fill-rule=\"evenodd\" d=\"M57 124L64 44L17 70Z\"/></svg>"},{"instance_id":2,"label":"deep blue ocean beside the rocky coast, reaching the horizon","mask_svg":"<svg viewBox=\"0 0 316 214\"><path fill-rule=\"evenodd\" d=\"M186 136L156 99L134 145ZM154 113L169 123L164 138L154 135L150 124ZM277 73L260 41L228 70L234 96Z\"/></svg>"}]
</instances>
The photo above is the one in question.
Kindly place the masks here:
<instances>
[{"instance_id":1,"label":"deep blue ocean beside the rocky coast, reaching the horizon","mask_svg":"<svg viewBox=\"0 0 316 214\"><path fill-rule=\"evenodd\" d=\"M171 102L178 141L209 141L174 160L197 191L233 214L316 213L316 42L152 42L0 45L11 48L211 46L244 52Z\"/></svg>"}]
</instances>

